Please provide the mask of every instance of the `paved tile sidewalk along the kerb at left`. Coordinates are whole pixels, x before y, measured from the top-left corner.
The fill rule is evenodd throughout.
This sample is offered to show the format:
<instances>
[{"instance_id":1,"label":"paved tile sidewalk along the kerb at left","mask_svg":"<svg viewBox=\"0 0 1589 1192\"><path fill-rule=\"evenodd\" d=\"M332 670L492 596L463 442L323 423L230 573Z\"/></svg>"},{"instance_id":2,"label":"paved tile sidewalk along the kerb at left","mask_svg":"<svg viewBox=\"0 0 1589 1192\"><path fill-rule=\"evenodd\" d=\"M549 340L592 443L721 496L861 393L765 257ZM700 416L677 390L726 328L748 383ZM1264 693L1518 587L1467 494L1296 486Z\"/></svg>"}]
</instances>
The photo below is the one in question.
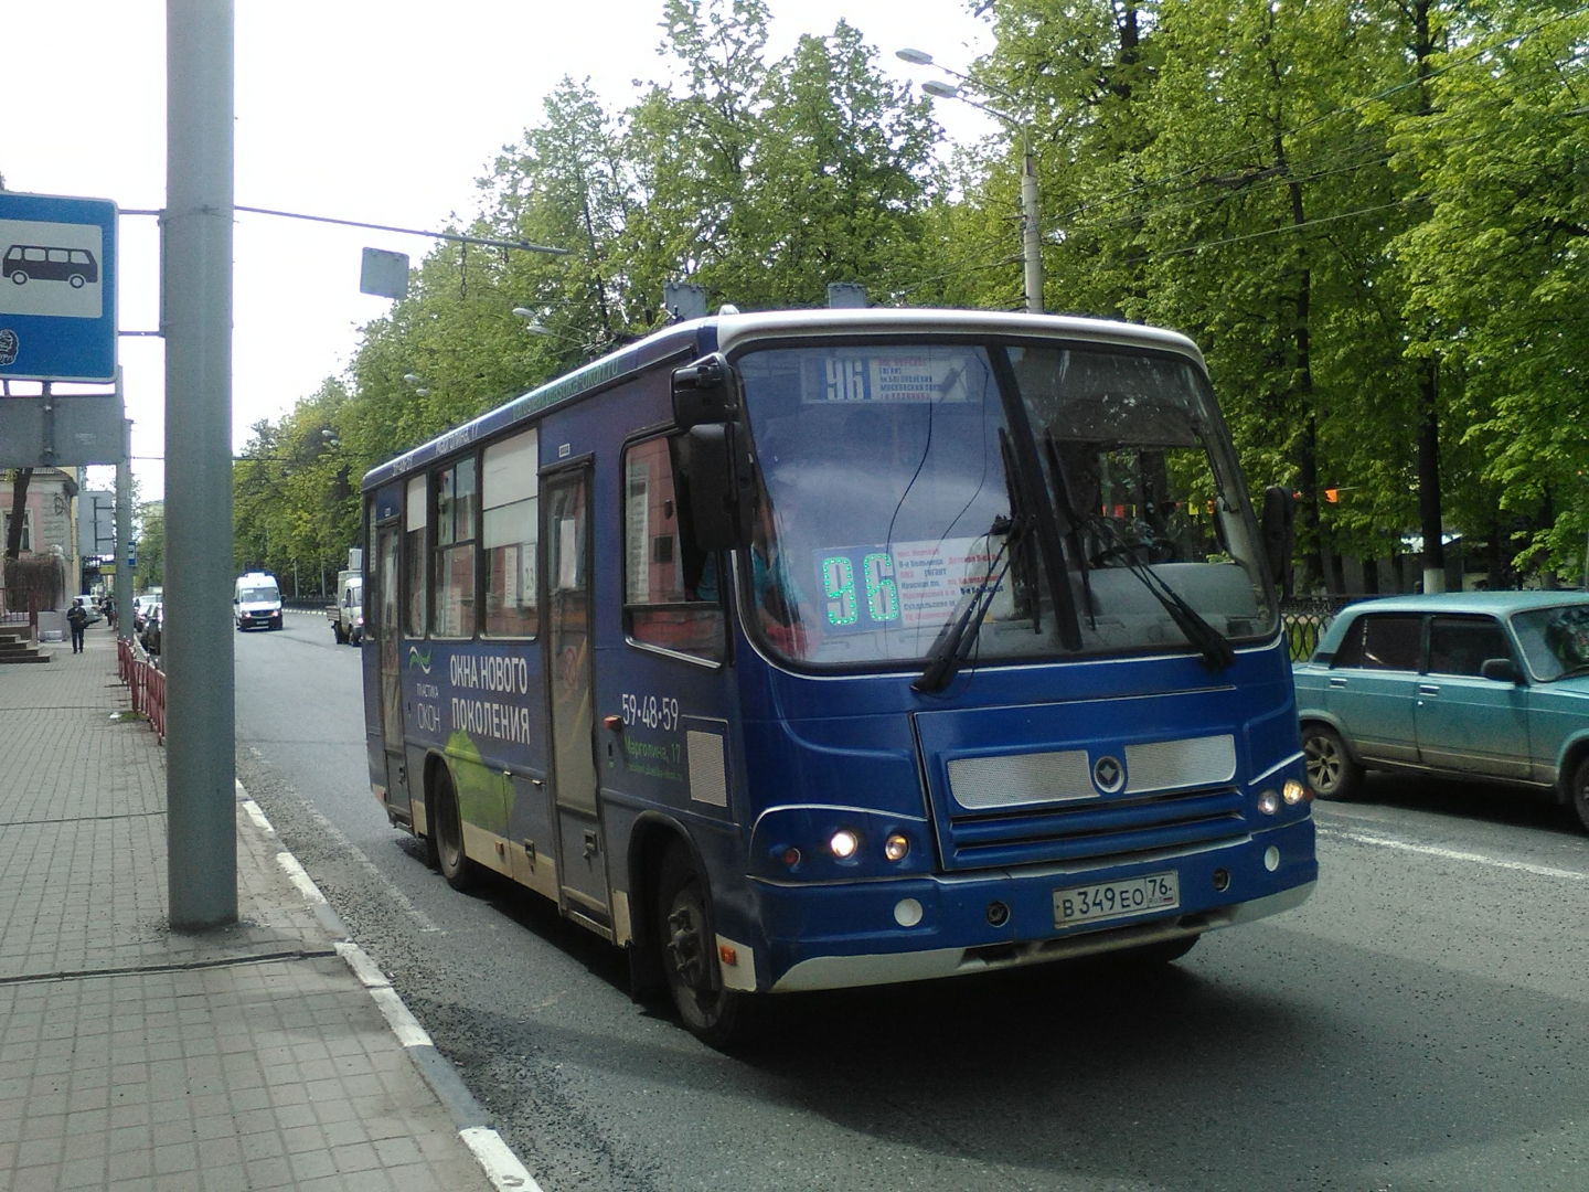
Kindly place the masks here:
<instances>
[{"instance_id":1,"label":"paved tile sidewalk along the kerb at left","mask_svg":"<svg viewBox=\"0 0 1589 1192\"><path fill-rule=\"evenodd\" d=\"M0 666L0 1189L488 1189L238 812L237 927L165 927L165 772L114 637Z\"/></svg>"}]
</instances>

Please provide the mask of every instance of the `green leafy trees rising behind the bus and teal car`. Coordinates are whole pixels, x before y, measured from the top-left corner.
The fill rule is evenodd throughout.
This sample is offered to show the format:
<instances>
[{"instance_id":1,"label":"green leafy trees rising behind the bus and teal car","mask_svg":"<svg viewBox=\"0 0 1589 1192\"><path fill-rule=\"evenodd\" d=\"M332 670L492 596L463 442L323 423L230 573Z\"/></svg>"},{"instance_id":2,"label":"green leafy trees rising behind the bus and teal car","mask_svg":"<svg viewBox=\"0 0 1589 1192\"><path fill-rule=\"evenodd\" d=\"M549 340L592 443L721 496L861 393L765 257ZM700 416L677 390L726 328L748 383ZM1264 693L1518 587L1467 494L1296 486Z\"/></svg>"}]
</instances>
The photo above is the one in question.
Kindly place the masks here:
<instances>
[{"instance_id":1,"label":"green leafy trees rising behind the bus and teal car","mask_svg":"<svg viewBox=\"0 0 1589 1192\"><path fill-rule=\"evenodd\" d=\"M564 79L345 377L254 428L240 566L338 561L370 466L712 304L1019 308L1020 129L1050 310L1190 334L1254 488L1301 496L1313 582L1419 529L1572 571L1589 532L1586 17L1529 0L999 0L934 159L925 100L839 22L767 56L763 0L663 0L667 78ZM980 87L980 91L977 91ZM515 308L529 313L526 318ZM1492 580L1502 579L1494 563Z\"/></svg>"}]
</instances>

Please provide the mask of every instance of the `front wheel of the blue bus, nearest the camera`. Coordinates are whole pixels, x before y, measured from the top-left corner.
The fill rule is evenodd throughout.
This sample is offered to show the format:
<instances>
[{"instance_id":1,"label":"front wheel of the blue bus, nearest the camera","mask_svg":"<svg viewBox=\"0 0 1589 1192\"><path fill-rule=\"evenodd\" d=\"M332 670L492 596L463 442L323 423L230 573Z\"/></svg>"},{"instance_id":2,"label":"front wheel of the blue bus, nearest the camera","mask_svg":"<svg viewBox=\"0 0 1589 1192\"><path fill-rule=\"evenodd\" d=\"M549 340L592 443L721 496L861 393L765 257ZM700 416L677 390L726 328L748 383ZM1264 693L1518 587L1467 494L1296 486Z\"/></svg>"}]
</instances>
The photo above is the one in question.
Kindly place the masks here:
<instances>
[{"instance_id":1,"label":"front wheel of the blue bus, nearest the camera","mask_svg":"<svg viewBox=\"0 0 1589 1192\"><path fill-rule=\"evenodd\" d=\"M674 846L663 858L656 938L667 990L690 1033L720 1051L750 1039L755 995L723 989L706 882L683 846Z\"/></svg>"}]
</instances>

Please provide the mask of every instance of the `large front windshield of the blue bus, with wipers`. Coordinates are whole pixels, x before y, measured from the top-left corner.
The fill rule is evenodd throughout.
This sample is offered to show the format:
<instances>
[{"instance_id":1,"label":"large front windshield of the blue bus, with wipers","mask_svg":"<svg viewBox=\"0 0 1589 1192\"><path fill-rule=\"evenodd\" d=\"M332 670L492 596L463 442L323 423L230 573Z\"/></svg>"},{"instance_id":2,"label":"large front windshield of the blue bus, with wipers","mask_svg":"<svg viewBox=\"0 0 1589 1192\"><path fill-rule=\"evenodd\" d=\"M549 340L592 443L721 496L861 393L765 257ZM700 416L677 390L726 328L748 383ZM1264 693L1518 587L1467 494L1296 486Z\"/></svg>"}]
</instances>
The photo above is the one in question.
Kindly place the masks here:
<instances>
[{"instance_id":1,"label":"large front windshield of the blue bus, with wipers","mask_svg":"<svg viewBox=\"0 0 1589 1192\"><path fill-rule=\"evenodd\" d=\"M1228 642L1274 631L1189 361L939 340L737 367L760 464L753 631L796 661L920 663L957 625L972 661L1190 652L1189 620Z\"/></svg>"}]
</instances>

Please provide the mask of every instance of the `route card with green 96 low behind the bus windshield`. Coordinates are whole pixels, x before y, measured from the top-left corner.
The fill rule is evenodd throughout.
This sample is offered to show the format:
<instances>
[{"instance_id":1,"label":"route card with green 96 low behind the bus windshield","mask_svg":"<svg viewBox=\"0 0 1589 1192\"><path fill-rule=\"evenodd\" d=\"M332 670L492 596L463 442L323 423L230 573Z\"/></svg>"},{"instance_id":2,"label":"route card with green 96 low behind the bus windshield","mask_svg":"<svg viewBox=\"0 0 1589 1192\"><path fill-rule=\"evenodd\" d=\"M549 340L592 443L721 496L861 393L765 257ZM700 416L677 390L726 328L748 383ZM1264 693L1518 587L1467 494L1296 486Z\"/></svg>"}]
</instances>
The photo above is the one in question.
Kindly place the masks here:
<instances>
[{"instance_id":1,"label":"route card with green 96 low behind the bus windshield","mask_svg":"<svg viewBox=\"0 0 1589 1192\"><path fill-rule=\"evenodd\" d=\"M818 550L823 628L936 633L987 574L995 551L985 536Z\"/></svg>"}]
</instances>

